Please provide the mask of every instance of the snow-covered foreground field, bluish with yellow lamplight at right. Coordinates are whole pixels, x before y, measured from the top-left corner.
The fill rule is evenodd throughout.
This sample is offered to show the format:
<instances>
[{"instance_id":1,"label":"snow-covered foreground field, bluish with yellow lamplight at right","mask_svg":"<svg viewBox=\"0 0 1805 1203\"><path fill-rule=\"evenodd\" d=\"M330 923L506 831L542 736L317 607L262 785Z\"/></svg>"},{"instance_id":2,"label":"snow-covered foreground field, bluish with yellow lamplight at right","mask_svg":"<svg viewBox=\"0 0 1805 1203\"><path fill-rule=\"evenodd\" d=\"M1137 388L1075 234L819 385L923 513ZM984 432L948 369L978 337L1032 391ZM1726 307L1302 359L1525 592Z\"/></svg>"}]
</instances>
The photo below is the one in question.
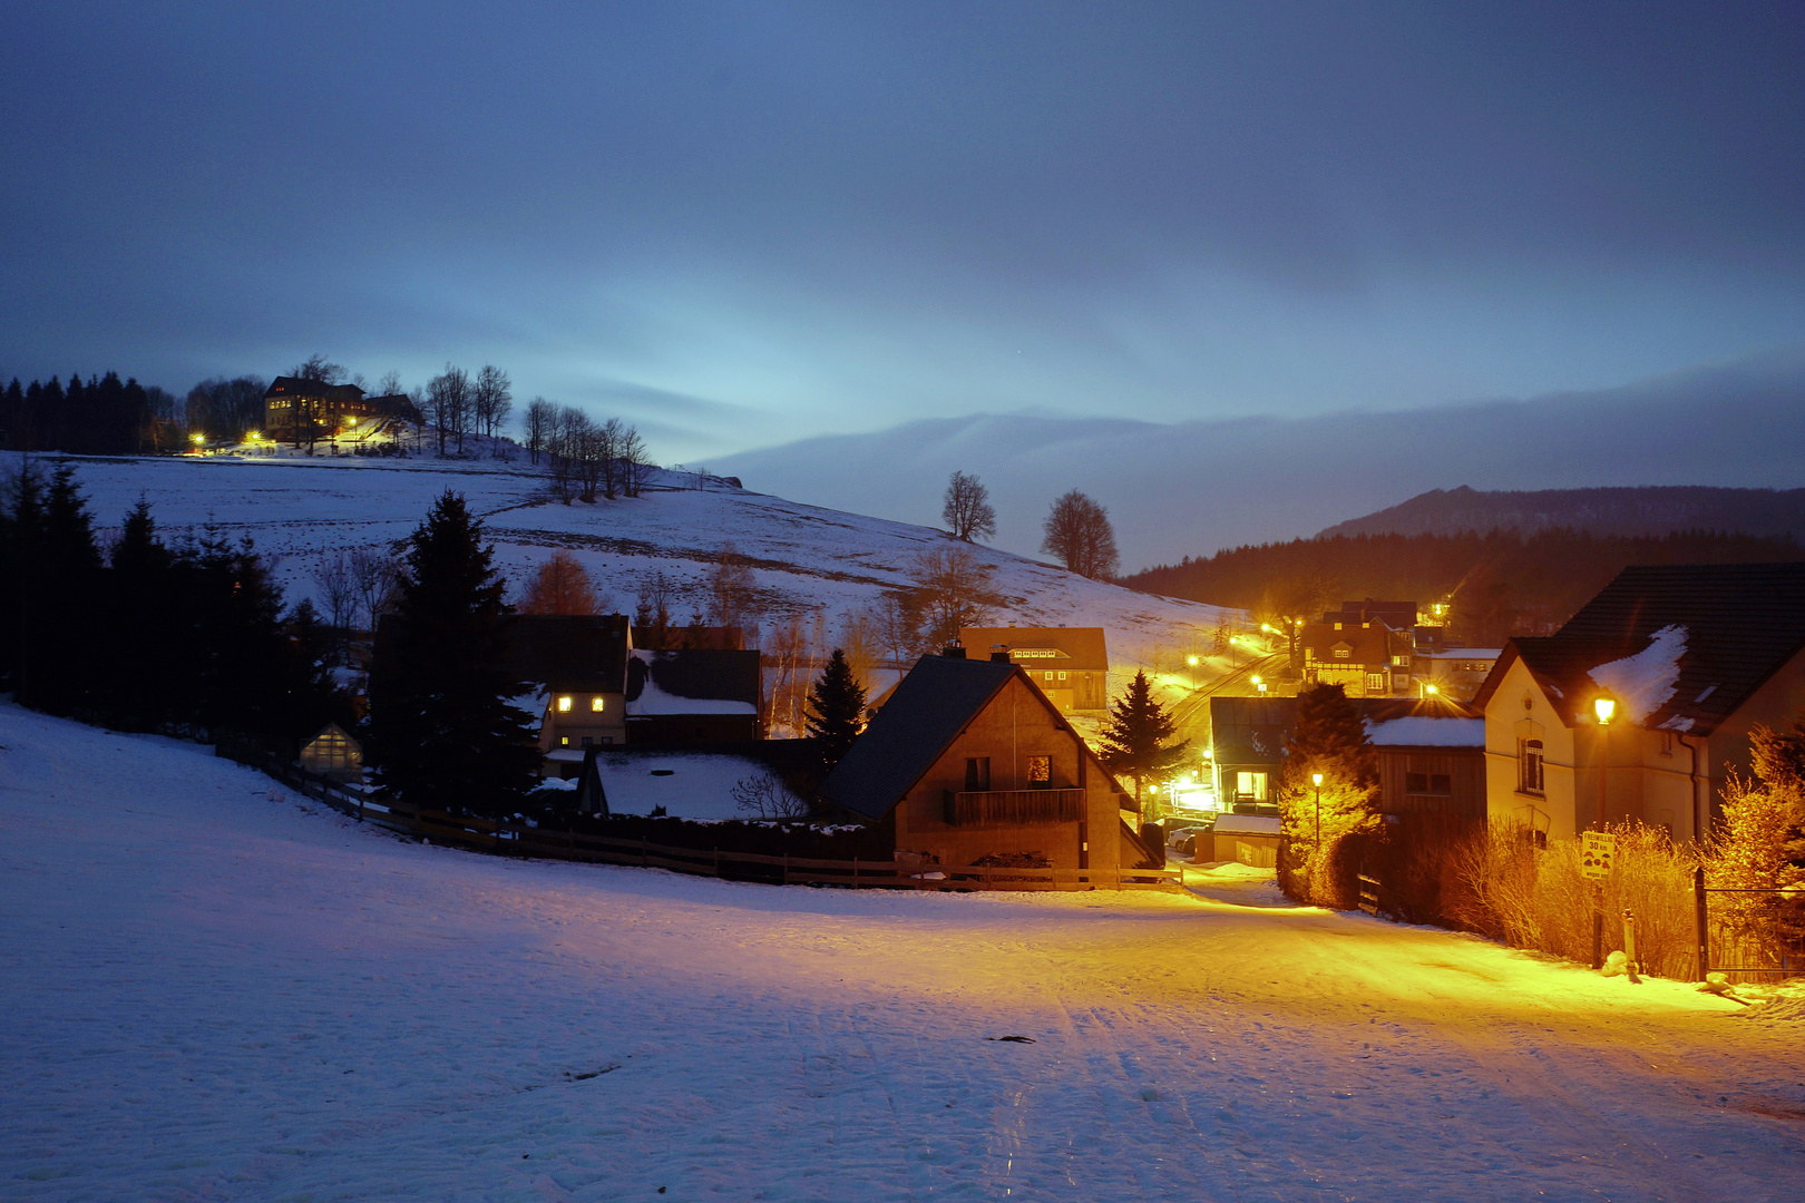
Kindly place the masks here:
<instances>
[{"instance_id":1,"label":"snow-covered foreground field, bluish with yellow lamplight at right","mask_svg":"<svg viewBox=\"0 0 1805 1203\"><path fill-rule=\"evenodd\" d=\"M520 864L359 828L204 748L9 705L0 745L7 1199L1805 1181L1798 1021L1689 985L1273 909L1235 878L899 896Z\"/></svg>"}]
</instances>

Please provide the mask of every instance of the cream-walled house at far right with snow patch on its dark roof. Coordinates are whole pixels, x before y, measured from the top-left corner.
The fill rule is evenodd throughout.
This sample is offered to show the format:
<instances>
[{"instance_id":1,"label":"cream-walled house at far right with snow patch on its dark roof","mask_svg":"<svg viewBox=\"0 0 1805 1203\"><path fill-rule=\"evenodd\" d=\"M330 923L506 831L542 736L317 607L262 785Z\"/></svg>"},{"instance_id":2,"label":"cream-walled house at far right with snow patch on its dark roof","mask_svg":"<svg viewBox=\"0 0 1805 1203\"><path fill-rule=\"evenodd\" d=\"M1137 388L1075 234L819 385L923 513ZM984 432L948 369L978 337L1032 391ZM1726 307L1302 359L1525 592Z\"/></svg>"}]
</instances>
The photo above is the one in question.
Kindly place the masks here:
<instances>
[{"instance_id":1,"label":"cream-walled house at far right with snow patch on its dark roof","mask_svg":"<svg viewBox=\"0 0 1805 1203\"><path fill-rule=\"evenodd\" d=\"M1493 819L1695 840L1749 772L1754 725L1805 707L1805 565L1624 568L1554 635L1509 640L1473 702Z\"/></svg>"}]
</instances>

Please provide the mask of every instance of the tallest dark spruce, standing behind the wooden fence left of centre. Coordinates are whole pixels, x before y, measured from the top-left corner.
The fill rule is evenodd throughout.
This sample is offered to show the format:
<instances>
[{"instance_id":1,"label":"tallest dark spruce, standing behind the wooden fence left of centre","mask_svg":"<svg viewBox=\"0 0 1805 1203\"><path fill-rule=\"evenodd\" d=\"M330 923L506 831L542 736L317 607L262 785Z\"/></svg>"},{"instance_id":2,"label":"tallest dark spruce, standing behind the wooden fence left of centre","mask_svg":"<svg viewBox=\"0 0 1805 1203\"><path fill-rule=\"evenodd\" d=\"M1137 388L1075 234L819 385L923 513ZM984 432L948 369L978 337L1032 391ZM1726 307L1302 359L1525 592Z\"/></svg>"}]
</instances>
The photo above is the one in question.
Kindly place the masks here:
<instances>
[{"instance_id":1,"label":"tallest dark spruce, standing behind the wooden fence left of centre","mask_svg":"<svg viewBox=\"0 0 1805 1203\"><path fill-rule=\"evenodd\" d=\"M446 491L413 532L395 617L370 680L368 758L401 801L511 815L532 786L527 685L507 671L505 583L482 523Z\"/></svg>"}]
</instances>

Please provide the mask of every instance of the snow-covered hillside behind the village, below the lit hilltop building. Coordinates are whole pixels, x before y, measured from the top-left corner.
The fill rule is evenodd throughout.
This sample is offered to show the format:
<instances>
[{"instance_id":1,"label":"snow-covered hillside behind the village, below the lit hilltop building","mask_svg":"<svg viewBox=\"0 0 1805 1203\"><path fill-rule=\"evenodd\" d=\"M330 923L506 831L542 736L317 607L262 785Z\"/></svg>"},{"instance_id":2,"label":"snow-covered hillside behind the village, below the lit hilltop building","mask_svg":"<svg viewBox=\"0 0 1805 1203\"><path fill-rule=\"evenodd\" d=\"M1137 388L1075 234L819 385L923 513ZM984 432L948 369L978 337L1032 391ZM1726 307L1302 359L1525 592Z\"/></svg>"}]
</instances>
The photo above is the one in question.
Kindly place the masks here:
<instances>
[{"instance_id":1,"label":"snow-covered hillside behind the village, below the lit hilltop building","mask_svg":"<svg viewBox=\"0 0 1805 1203\"><path fill-rule=\"evenodd\" d=\"M49 462L49 460L45 460ZM455 489L484 518L496 565L518 586L552 548L572 552L605 604L632 611L641 581L664 572L677 586L673 613L706 610L702 577L727 545L747 557L773 620L801 617L828 635L848 611L908 583L921 550L949 545L930 527L865 518L747 492L718 476L659 471L637 500L563 505L545 487L543 469L523 456L361 458L361 456L70 456L101 527L117 525L143 494L164 534L213 525L249 536L280 556L276 579L292 604L316 597L321 559L356 546L393 546ZM7 456L9 465L18 456ZM697 489L697 483L702 489ZM996 568L1005 604L998 622L1020 626L1103 626L1108 629L1112 687L1137 667L1175 671L1182 657L1209 644L1222 610L1087 581L1049 565L978 548ZM318 597L316 597L318 602ZM1235 611L1229 611L1235 613ZM1206 669L1208 673L1208 669Z\"/></svg>"}]
</instances>

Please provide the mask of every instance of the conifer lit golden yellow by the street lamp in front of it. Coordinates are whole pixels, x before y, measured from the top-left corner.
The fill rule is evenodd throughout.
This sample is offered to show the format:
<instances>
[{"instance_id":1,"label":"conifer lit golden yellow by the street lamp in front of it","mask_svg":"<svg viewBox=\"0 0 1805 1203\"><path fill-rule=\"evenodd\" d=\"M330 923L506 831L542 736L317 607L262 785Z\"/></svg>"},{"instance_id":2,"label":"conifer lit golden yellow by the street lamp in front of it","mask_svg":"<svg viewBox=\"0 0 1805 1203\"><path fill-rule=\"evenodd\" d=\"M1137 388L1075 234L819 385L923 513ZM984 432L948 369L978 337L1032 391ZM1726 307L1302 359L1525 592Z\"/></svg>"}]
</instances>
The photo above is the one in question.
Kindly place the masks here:
<instances>
[{"instance_id":1,"label":"conifer lit golden yellow by the street lamp in front of it","mask_svg":"<svg viewBox=\"0 0 1805 1203\"><path fill-rule=\"evenodd\" d=\"M1336 849L1379 821L1374 810L1379 758L1341 685L1316 685L1298 694L1283 756L1278 774L1280 886L1292 898L1343 905L1352 869L1338 873ZM1323 777L1321 786L1316 774Z\"/></svg>"}]
</instances>

